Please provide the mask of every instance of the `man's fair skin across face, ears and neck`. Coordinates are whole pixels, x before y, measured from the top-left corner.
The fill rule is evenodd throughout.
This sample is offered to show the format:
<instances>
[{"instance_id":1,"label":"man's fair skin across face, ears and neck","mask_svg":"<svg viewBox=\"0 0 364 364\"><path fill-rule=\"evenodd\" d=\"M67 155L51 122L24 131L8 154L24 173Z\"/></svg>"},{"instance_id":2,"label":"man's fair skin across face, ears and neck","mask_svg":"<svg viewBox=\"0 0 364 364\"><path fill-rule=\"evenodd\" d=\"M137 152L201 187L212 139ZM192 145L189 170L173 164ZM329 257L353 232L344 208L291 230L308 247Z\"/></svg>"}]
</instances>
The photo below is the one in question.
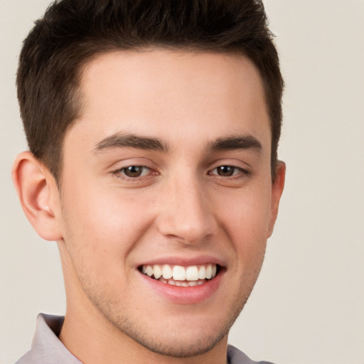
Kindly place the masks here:
<instances>
[{"instance_id":1,"label":"man's fair skin across face, ears and neck","mask_svg":"<svg viewBox=\"0 0 364 364\"><path fill-rule=\"evenodd\" d=\"M82 116L65 136L61 191L29 152L13 171L34 228L58 241L67 295L60 340L87 364L225 363L284 186L283 163L271 179L257 69L243 56L115 52L87 64L82 94ZM121 146L131 134L164 150ZM237 136L259 147L213 148ZM128 166L146 168L131 178ZM232 166L232 176L219 166ZM223 268L193 304L171 300L138 270L198 259Z\"/></svg>"}]
</instances>

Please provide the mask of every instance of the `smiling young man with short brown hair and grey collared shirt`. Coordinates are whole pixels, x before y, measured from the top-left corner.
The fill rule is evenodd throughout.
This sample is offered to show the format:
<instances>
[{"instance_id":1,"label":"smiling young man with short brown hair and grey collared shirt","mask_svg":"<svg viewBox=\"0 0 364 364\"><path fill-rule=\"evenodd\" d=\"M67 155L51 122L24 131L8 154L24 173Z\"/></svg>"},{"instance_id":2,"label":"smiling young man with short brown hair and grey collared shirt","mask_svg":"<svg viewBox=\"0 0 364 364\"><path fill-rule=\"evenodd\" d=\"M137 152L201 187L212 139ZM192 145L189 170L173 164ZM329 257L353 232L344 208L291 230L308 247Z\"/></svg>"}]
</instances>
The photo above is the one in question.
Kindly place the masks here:
<instances>
[{"instance_id":1,"label":"smiling young man with short brown hair and grey collared shirt","mask_svg":"<svg viewBox=\"0 0 364 364\"><path fill-rule=\"evenodd\" d=\"M65 318L18 363L253 363L228 332L277 218L283 80L259 1L63 0L26 39L21 205Z\"/></svg>"}]
</instances>

